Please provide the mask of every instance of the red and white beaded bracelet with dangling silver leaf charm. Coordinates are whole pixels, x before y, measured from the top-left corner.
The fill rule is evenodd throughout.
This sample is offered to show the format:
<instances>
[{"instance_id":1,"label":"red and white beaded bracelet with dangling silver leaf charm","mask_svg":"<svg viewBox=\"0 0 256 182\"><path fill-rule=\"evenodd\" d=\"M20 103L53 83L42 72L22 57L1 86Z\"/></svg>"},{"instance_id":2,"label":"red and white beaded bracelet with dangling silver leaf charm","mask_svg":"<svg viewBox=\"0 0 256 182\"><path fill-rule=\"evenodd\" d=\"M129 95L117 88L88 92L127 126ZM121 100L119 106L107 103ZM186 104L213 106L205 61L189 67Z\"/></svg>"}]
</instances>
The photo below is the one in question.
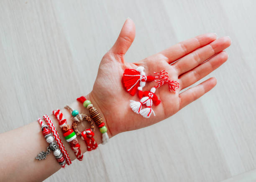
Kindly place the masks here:
<instances>
[{"instance_id":1,"label":"red and white beaded bracelet with dangling silver leaf charm","mask_svg":"<svg viewBox=\"0 0 256 182\"><path fill-rule=\"evenodd\" d=\"M54 137L51 135L50 130L46 125L43 124L43 121L41 120L40 117L38 118L38 123L41 126L41 130L46 139L46 142L49 143L49 147L47 147L47 152L44 152L44 151L40 152L40 154L37 155L36 159L37 160L46 159L46 155L49 155L50 150L52 150L55 158L59 162L59 165L61 165L62 167L65 167L66 160L64 159L61 151L57 149L57 145L56 143L54 143Z\"/></svg>"}]
</instances>

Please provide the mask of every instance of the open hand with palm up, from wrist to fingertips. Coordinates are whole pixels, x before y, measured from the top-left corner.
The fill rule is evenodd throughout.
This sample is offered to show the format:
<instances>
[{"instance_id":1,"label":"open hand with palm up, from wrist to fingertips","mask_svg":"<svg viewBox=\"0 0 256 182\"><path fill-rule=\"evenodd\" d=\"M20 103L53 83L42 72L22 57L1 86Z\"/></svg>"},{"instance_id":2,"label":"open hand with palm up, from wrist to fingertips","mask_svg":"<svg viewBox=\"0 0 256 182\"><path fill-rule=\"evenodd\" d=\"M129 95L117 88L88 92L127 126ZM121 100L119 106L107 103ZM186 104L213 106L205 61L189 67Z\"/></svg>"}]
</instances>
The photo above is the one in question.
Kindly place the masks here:
<instances>
[{"instance_id":1,"label":"open hand with palm up, from wrist to fingertips","mask_svg":"<svg viewBox=\"0 0 256 182\"><path fill-rule=\"evenodd\" d=\"M164 120L211 90L217 83L214 77L181 92L222 65L228 59L228 54L223 50L231 44L229 37L217 39L216 34L207 33L139 62L128 63L124 55L134 38L135 25L131 19L127 19L115 44L102 58L93 90L89 94L92 103L103 113L110 136ZM166 70L169 78L180 85L176 93L170 92L168 85L156 89L161 103L152 106L156 116L151 115L150 118L131 110L130 100L140 99L126 92L121 82L126 68L136 69L138 66L145 67L146 75L154 76L154 72ZM150 90L154 85L155 82L147 83L143 90Z\"/></svg>"}]
</instances>

